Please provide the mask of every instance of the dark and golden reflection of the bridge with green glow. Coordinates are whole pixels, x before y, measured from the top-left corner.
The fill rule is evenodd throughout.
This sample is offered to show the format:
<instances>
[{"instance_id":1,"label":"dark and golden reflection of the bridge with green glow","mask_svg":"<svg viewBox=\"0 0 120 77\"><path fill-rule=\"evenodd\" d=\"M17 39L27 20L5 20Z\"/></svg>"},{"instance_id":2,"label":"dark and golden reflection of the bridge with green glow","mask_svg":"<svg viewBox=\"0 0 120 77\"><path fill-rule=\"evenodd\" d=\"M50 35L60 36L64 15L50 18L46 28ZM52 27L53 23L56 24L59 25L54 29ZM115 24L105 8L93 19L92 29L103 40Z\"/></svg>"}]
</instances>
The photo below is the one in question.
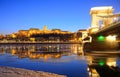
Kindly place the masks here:
<instances>
[{"instance_id":1,"label":"dark and golden reflection of the bridge with green glow","mask_svg":"<svg viewBox=\"0 0 120 77\"><path fill-rule=\"evenodd\" d=\"M120 77L118 59L118 55L87 55L89 77Z\"/></svg>"}]
</instances>

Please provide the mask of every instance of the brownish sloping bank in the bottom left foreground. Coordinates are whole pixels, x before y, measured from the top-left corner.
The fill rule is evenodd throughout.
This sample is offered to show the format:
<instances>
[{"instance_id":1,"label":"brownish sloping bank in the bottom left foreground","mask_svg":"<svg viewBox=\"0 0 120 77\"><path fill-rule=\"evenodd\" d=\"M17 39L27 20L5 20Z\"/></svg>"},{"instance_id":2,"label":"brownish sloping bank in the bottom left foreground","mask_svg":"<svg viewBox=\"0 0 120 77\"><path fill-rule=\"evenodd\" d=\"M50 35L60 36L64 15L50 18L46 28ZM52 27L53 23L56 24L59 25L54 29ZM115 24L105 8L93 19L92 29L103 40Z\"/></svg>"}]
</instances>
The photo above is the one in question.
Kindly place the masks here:
<instances>
[{"instance_id":1,"label":"brownish sloping bank in the bottom left foreground","mask_svg":"<svg viewBox=\"0 0 120 77\"><path fill-rule=\"evenodd\" d=\"M66 77L54 73L0 66L0 77Z\"/></svg>"}]
</instances>

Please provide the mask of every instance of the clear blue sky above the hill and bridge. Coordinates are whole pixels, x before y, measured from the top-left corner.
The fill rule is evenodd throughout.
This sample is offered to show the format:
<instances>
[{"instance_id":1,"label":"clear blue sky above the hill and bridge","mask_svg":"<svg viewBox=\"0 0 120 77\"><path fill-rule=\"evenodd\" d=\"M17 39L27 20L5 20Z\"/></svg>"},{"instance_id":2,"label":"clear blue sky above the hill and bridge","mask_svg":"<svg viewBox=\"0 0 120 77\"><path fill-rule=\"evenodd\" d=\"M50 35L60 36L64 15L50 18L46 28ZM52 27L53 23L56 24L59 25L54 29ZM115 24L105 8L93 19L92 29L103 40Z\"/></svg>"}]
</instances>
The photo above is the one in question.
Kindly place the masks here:
<instances>
[{"instance_id":1,"label":"clear blue sky above the hill and bridge","mask_svg":"<svg viewBox=\"0 0 120 77\"><path fill-rule=\"evenodd\" d=\"M29 28L75 32L91 24L91 7L113 6L120 12L120 0L0 0L0 34Z\"/></svg>"}]
</instances>

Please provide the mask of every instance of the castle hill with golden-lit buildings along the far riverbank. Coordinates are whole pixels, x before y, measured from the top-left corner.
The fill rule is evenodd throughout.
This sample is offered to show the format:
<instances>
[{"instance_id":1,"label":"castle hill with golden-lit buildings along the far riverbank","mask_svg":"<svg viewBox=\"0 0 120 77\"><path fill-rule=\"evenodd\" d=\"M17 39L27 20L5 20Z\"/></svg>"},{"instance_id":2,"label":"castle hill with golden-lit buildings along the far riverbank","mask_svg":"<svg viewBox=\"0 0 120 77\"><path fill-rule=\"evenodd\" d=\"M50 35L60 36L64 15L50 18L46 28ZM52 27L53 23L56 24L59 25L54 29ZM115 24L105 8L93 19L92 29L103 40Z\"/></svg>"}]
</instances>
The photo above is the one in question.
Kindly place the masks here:
<instances>
[{"instance_id":1,"label":"castle hill with golden-lit buildings along the far riverbank","mask_svg":"<svg viewBox=\"0 0 120 77\"><path fill-rule=\"evenodd\" d=\"M0 43L81 43L82 33L85 34L87 31L85 29L77 32L62 31L61 29L48 30L45 25L42 30L30 28L9 35L1 34Z\"/></svg>"}]
</instances>

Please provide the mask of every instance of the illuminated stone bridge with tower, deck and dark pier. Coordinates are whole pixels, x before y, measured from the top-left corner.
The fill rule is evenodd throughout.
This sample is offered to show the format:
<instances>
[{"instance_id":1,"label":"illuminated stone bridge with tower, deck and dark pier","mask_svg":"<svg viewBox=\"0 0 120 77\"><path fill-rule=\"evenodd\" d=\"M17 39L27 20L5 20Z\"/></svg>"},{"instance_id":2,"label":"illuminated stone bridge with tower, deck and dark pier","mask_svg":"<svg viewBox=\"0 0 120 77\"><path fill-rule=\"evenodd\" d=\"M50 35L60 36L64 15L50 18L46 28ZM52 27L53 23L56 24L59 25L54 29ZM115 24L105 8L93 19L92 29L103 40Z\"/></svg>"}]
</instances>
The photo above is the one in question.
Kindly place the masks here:
<instances>
[{"instance_id":1,"label":"illuminated stone bridge with tower, deck and dark pier","mask_svg":"<svg viewBox=\"0 0 120 77\"><path fill-rule=\"evenodd\" d=\"M112 6L104 6L91 8L90 14L84 51L120 50L120 13L114 13Z\"/></svg>"}]
</instances>

